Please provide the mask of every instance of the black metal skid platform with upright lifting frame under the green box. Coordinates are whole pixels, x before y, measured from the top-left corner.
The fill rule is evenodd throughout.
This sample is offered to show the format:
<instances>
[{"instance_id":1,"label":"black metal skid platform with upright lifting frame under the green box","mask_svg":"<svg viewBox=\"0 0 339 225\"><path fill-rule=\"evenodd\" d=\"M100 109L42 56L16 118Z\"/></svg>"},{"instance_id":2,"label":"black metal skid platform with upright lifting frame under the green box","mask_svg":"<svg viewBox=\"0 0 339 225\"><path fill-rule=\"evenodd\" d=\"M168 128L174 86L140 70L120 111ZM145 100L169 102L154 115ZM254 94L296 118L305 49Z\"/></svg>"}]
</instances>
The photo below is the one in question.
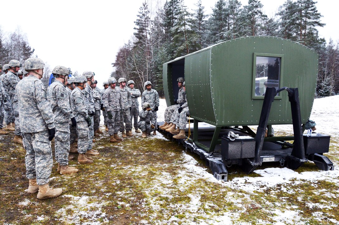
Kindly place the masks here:
<instances>
[{"instance_id":1,"label":"black metal skid platform with upright lifting frame under the green box","mask_svg":"<svg viewBox=\"0 0 339 225\"><path fill-rule=\"evenodd\" d=\"M268 116L274 96L287 91L291 102L293 136L265 137ZM191 152L197 153L204 159L206 166L212 170L214 177L218 180L227 180L227 169L232 165L239 165L244 172L252 173L264 162L279 162L280 166L292 170L298 169L303 163L311 160L315 165L324 171L334 170L333 163L323 155L328 152L330 146L330 136L323 134L303 135L304 126L301 126L300 105L298 89L283 87L275 90L274 87L267 87L260 115L257 133L254 133L248 126L214 127L202 126L198 129L198 122L194 120L192 137L186 139L173 139ZM159 122L159 125L164 122ZM207 124L208 125L208 124ZM162 129L160 132L167 134L168 138L173 135ZM187 131L187 128L186 128ZM192 132L193 131L193 132ZM228 132L239 134L239 138L231 141L227 138ZM290 144L285 141L294 141Z\"/></svg>"}]
</instances>

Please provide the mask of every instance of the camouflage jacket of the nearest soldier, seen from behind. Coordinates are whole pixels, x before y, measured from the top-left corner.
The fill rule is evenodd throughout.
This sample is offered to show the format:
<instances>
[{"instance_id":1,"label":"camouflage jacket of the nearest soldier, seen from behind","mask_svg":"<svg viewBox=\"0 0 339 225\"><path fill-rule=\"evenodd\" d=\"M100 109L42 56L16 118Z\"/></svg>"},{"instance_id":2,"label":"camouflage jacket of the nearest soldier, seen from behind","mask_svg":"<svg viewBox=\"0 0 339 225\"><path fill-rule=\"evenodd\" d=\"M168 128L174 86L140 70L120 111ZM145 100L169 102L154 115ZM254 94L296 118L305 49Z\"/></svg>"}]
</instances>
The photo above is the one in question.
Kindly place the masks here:
<instances>
[{"instance_id":1,"label":"camouflage jacket of the nearest soldier, seen from behind","mask_svg":"<svg viewBox=\"0 0 339 225\"><path fill-rule=\"evenodd\" d=\"M33 75L25 77L16 86L16 95L21 132L35 133L55 127L53 112L41 80Z\"/></svg>"}]
</instances>

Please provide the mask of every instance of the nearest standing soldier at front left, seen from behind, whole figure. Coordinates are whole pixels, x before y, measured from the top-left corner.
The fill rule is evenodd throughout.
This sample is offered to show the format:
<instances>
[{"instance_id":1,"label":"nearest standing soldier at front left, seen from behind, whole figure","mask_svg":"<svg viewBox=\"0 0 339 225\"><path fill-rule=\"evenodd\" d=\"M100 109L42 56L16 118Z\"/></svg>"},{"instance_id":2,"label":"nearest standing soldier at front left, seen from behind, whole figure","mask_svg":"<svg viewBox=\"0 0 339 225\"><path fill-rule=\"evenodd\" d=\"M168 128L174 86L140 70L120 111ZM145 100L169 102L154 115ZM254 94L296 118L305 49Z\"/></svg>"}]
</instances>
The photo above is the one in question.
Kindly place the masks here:
<instances>
[{"instance_id":1,"label":"nearest standing soldier at front left, seen from behind, whole figure","mask_svg":"<svg viewBox=\"0 0 339 225\"><path fill-rule=\"evenodd\" d=\"M26 177L29 179L28 193L39 191L38 199L54 198L62 189L50 189L53 157L51 141L55 135L54 116L41 82L44 62L39 58L28 58L24 68L29 76L16 86L19 120L26 149Z\"/></svg>"}]
</instances>

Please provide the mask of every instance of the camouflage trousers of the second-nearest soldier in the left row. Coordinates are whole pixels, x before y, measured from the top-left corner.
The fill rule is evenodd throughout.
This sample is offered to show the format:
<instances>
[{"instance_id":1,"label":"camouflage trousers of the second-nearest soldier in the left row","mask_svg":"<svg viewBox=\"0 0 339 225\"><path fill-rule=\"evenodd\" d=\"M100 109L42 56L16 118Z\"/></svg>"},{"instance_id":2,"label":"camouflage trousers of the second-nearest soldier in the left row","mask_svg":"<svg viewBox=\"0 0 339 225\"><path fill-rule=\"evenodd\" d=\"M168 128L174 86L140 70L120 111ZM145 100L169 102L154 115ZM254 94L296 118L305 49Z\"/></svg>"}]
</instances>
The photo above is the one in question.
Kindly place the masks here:
<instances>
[{"instance_id":1,"label":"camouflage trousers of the second-nearest soldier in the left row","mask_svg":"<svg viewBox=\"0 0 339 225\"><path fill-rule=\"evenodd\" d=\"M55 161L60 163L60 166L68 165L69 154L69 123L55 124Z\"/></svg>"}]
</instances>

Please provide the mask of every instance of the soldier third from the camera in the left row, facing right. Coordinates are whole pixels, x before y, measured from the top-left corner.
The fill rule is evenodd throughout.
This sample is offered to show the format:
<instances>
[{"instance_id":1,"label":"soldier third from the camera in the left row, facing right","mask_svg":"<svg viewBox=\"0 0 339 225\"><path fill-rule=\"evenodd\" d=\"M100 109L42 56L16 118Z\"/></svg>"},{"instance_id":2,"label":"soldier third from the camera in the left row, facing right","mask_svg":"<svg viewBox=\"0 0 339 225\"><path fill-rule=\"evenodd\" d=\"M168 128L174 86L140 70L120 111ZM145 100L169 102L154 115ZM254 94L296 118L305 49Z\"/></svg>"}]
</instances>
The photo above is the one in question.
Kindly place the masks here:
<instances>
[{"instance_id":1,"label":"soldier third from the camera in the left row, facing right","mask_svg":"<svg viewBox=\"0 0 339 225\"><path fill-rule=\"evenodd\" d=\"M78 75L74 78L73 83L75 89L71 93L71 109L77 121L77 134L78 134L78 163L80 164L91 164L93 163L90 156L85 155L88 149L89 141L89 130L92 120L88 116L88 110L86 108L86 99L82 92L86 87L87 78Z\"/></svg>"}]
</instances>

